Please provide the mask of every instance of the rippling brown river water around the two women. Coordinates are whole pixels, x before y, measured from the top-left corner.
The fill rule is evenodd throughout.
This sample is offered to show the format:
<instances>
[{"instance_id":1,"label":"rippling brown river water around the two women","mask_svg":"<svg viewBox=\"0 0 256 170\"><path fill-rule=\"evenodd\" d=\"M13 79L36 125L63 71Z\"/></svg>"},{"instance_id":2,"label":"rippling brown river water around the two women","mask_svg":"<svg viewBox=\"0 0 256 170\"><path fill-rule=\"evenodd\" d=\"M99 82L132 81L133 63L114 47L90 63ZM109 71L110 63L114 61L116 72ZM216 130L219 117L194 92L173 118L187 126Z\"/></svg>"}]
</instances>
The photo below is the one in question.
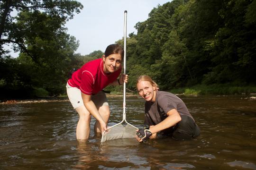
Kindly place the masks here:
<instances>
[{"instance_id":1,"label":"rippling brown river water around the two women","mask_svg":"<svg viewBox=\"0 0 256 170\"><path fill-rule=\"evenodd\" d=\"M256 170L256 100L246 95L179 96L201 128L190 141L78 143L68 101L0 104L0 170ZM122 97L109 98L109 126L122 120ZM143 99L127 97L127 121L143 126Z\"/></svg>"}]
</instances>

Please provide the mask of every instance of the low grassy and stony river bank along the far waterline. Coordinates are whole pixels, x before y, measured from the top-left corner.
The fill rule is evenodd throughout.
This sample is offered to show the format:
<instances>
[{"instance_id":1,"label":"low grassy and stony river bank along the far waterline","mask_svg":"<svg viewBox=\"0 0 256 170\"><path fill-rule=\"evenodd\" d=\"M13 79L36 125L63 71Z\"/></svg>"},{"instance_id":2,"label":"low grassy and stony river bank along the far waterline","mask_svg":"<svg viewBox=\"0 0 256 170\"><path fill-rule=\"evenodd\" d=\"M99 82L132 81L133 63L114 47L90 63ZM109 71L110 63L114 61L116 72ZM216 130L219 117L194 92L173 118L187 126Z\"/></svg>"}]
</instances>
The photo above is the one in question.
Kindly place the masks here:
<instances>
[{"instance_id":1,"label":"low grassy and stony river bank along the far waterline","mask_svg":"<svg viewBox=\"0 0 256 170\"><path fill-rule=\"evenodd\" d=\"M160 87L161 90L161 87ZM168 90L176 95L241 95L241 99L256 100L256 86L234 86L229 84L224 85L194 85L192 87L183 87ZM111 91L106 93L108 98L123 97L122 91ZM127 97L135 96L140 98L139 94L130 91L126 93ZM69 101L66 94L55 97L40 97L31 99L3 99L0 100L0 104L15 104L15 103L37 103L37 102L66 102Z\"/></svg>"}]
</instances>

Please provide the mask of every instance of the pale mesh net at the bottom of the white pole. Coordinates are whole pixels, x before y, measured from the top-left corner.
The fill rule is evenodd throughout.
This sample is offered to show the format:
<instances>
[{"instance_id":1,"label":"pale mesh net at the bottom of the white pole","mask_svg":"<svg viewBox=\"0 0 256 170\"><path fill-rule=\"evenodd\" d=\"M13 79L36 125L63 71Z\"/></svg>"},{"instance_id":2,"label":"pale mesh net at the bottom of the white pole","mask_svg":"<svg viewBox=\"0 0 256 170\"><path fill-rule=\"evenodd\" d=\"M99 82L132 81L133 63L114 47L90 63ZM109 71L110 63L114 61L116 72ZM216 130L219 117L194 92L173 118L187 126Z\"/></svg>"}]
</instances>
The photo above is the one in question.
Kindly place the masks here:
<instances>
[{"instance_id":1,"label":"pale mesh net at the bottom of the white pole","mask_svg":"<svg viewBox=\"0 0 256 170\"><path fill-rule=\"evenodd\" d=\"M135 138L137 127L129 124L117 124L105 131L102 135L101 142L120 138Z\"/></svg>"}]
</instances>

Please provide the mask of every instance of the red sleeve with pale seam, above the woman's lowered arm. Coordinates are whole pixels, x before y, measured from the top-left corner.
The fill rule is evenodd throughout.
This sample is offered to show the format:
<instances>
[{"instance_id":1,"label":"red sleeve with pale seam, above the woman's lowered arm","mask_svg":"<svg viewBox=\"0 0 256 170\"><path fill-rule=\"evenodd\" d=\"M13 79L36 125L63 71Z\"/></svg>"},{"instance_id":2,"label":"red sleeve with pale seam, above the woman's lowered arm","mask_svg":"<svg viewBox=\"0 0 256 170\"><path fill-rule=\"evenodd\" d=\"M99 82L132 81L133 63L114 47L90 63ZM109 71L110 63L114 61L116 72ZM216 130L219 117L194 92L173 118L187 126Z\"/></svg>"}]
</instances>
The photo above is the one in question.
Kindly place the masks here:
<instances>
[{"instance_id":1,"label":"red sleeve with pale seam, above the woman's lowered arm","mask_svg":"<svg viewBox=\"0 0 256 170\"><path fill-rule=\"evenodd\" d=\"M89 71L83 71L81 76L80 90L82 93L91 95L93 91L94 79Z\"/></svg>"}]
</instances>

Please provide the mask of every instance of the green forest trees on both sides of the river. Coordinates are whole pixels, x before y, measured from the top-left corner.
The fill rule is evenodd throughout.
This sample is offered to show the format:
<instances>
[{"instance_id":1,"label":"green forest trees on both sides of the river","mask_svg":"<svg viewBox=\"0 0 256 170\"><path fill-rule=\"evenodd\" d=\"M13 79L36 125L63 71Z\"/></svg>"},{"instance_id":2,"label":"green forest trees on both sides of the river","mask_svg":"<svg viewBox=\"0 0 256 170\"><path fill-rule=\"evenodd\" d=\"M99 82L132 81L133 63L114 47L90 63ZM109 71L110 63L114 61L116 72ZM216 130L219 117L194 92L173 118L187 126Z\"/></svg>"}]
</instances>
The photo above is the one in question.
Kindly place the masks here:
<instances>
[{"instance_id":1,"label":"green forest trees on both sides of the river","mask_svg":"<svg viewBox=\"0 0 256 170\"><path fill-rule=\"evenodd\" d=\"M102 56L102 51L74 53L79 42L64 24L82 8L75 0L0 2L0 90L5 97L10 92L14 97L64 94L69 70ZM255 8L256 0L173 0L153 8L127 39L127 87L135 90L142 74L152 76L161 90L256 85ZM7 43L20 52L18 58L2 48Z\"/></svg>"}]
</instances>

